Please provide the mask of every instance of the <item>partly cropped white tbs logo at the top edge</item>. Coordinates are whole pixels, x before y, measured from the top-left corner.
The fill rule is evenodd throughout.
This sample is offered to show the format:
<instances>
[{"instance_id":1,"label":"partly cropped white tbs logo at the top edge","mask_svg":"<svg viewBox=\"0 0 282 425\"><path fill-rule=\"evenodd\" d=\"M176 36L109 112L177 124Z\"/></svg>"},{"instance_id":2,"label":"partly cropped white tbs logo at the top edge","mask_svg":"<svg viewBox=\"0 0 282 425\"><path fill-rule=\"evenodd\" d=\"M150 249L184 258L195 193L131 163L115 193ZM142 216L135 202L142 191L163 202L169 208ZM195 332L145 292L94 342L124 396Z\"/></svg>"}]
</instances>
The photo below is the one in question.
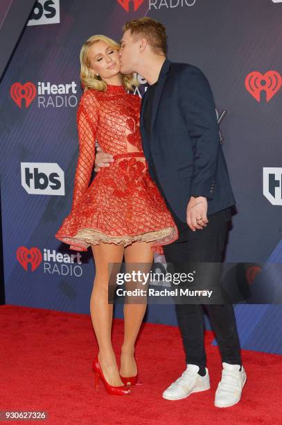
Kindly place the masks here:
<instances>
[{"instance_id":1,"label":"partly cropped white tbs logo at the top edge","mask_svg":"<svg viewBox=\"0 0 282 425\"><path fill-rule=\"evenodd\" d=\"M60 24L59 0L37 0L27 26Z\"/></svg>"}]
</instances>

